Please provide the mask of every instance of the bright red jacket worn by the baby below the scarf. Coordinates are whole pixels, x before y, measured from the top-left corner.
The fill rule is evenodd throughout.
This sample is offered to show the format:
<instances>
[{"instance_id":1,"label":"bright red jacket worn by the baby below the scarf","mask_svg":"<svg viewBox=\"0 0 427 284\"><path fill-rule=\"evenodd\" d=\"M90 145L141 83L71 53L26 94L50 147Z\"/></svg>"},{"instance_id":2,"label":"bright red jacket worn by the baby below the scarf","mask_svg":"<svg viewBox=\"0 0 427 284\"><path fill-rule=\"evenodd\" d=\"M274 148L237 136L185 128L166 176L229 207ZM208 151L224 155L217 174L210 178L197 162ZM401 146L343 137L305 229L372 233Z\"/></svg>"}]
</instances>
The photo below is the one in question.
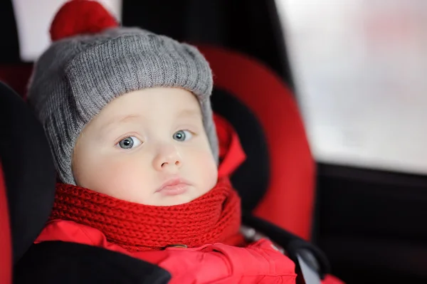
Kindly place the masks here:
<instances>
[{"instance_id":1,"label":"bright red jacket worn by the baby below the scarf","mask_svg":"<svg viewBox=\"0 0 427 284\"><path fill-rule=\"evenodd\" d=\"M95 228L73 221L51 221L38 236L42 241L69 241L100 246L159 265L172 274L173 283L295 283L295 264L260 240L246 248L221 243L199 248L167 248L164 251L129 252L110 243Z\"/></svg>"}]
</instances>

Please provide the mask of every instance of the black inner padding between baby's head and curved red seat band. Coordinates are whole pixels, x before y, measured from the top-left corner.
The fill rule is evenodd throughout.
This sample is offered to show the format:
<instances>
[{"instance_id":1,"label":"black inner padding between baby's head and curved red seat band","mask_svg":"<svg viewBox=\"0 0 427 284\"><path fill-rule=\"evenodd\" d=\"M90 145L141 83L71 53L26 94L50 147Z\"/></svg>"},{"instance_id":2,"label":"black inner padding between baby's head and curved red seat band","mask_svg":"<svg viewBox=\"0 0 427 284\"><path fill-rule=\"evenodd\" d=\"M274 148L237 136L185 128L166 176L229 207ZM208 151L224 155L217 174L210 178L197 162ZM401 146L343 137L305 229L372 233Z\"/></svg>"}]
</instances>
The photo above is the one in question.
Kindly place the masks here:
<instances>
[{"instance_id":1,"label":"black inner padding between baby's head and curved red seat band","mask_svg":"<svg viewBox=\"0 0 427 284\"><path fill-rule=\"evenodd\" d=\"M251 212L263 198L270 179L263 127L251 110L226 90L215 88L211 101L214 112L233 125L246 153L246 161L233 173L231 182L241 196L243 210Z\"/></svg>"}]
</instances>

